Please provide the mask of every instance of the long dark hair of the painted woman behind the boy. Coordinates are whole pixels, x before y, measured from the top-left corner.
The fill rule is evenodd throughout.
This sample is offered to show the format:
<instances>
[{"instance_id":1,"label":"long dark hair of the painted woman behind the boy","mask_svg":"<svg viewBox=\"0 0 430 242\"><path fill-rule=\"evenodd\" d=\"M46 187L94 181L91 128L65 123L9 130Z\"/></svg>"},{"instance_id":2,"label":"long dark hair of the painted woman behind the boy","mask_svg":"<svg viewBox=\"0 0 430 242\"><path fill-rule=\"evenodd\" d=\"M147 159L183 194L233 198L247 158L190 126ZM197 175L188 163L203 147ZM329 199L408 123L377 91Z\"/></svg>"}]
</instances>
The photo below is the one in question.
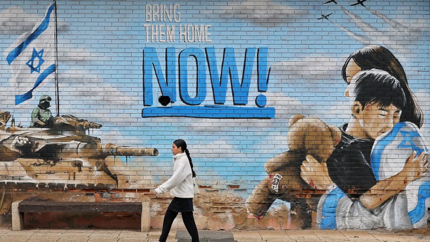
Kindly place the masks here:
<instances>
[{"instance_id":1,"label":"long dark hair of the painted woman behind the boy","mask_svg":"<svg viewBox=\"0 0 430 242\"><path fill-rule=\"evenodd\" d=\"M342 77L347 82L347 66L351 59L361 68L361 70L379 69L384 70L399 80L405 93L407 104L402 110L400 122L408 121L414 123L419 128L423 125L423 114L421 108L416 103L416 98L409 89L408 79L405 70L399 60L390 50L382 46L366 46L351 54L342 68ZM348 83L348 82L347 82Z\"/></svg>"}]
</instances>

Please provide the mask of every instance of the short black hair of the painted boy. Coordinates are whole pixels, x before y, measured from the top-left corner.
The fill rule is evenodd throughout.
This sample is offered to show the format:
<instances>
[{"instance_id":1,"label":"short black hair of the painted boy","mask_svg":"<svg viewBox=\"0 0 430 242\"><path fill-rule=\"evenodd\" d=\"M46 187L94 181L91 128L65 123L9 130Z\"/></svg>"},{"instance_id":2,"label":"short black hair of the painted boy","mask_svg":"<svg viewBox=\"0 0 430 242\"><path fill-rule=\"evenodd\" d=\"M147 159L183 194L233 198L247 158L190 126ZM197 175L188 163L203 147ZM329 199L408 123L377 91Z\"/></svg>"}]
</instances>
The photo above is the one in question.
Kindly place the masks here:
<instances>
[{"instance_id":1,"label":"short black hair of the painted boy","mask_svg":"<svg viewBox=\"0 0 430 242\"><path fill-rule=\"evenodd\" d=\"M407 105L405 92L396 77L383 70L360 71L352 80L354 101L360 102L362 109L368 104L377 103L380 107L391 104L404 110Z\"/></svg>"}]
</instances>

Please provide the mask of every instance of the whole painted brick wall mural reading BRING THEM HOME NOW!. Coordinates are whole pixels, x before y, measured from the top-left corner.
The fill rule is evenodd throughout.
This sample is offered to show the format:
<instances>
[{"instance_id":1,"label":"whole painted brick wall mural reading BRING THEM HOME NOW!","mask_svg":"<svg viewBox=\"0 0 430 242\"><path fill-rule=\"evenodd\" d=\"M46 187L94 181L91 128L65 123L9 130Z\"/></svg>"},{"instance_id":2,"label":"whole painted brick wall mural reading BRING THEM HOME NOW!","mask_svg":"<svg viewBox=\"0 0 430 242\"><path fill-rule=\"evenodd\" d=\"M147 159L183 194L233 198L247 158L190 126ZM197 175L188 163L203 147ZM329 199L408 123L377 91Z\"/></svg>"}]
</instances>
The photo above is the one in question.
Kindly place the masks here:
<instances>
[{"instance_id":1,"label":"whole painted brick wall mural reading BRING THEM HOME NOW!","mask_svg":"<svg viewBox=\"0 0 430 242\"><path fill-rule=\"evenodd\" d=\"M427 227L429 13L0 1L0 223L14 200L150 200L160 228L181 138L199 229Z\"/></svg>"}]
</instances>

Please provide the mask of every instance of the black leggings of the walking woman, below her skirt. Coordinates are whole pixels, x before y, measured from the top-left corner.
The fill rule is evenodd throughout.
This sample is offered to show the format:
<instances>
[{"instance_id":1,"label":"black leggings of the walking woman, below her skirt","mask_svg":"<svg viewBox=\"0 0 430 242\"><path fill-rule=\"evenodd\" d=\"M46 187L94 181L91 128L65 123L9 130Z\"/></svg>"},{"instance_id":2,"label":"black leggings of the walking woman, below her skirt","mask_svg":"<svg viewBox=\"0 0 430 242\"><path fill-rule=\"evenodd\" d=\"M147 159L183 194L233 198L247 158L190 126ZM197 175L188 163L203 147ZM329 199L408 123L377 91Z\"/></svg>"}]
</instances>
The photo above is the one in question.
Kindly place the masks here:
<instances>
[{"instance_id":1,"label":"black leggings of the walking woman, below her skirt","mask_svg":"<svg viewBox=\"0 0 430 242\"><path fill-rule=\"evenodd\" d=\"M183 212L182 220L184 221L185 227L187 228L188 233L191 235L192 242L199 242L199 233L197 231L196 222L194 221L193 211L191 212ZM164 215L163 221L163 229L161 230L160 241L165 242L167 236L170 232L171 224L175 220L176 216L178 216L178 212L167 209L166 214Z\"/></svg>"}]
</instances>

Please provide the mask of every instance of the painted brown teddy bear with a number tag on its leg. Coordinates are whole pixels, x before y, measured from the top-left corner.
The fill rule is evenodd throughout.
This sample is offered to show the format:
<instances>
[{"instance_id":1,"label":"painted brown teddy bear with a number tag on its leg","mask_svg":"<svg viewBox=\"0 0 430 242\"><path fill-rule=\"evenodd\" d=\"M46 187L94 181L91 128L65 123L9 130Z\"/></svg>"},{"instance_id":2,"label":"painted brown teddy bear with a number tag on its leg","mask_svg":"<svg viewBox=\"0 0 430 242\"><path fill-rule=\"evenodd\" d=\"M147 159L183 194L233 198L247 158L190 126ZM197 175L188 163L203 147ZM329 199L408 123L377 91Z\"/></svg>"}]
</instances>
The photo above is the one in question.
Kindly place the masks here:
<instances>
[{"instance_id":1,"label":"painted brown teddy bear with a number tag on its leg","mask_svg":"<svg viewBox=\"0 0 430 242\"><path fill-rule=\"evenodd\" d=\"M316 211L319 198L324 193L313 182L304 181L300 166L307 155L325 163L341 139L337 127L326 125L318 118L296 114L289 120L289 150L268 160L265 165L268 176L257 184L246 201L248 212L262 218L277 199L291 204L296 220L302 228L312 224L312 211ZM318 178L318 174L315 175Z\"/></svg>"}]
</instances>

